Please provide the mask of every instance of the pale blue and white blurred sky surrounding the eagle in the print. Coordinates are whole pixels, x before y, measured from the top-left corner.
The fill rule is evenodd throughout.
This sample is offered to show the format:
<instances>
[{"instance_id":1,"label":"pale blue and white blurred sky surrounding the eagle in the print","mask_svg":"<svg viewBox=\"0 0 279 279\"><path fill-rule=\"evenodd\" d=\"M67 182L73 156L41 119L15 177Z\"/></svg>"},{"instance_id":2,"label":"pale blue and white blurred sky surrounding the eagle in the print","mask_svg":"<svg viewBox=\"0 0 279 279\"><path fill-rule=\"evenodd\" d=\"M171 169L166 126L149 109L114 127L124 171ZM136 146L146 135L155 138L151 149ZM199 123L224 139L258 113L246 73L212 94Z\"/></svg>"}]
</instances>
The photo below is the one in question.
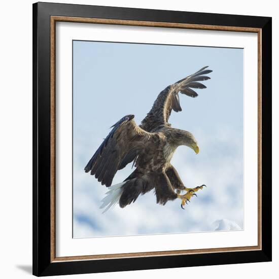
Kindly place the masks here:
<instances>
[{"instance_id":1,"label":"pale blue and white blurred sky surrounding the eagle in the print","mask_svg":"<svg viewBox=\"0 0 279 279\"><path fill-rule=\"evenodd\" d=\"M137 124L168 85L213 70L197 98L180 95L172 127L188 130L200 152L182 146L171 163L188 188L205 184L191 203L156 203L151 191L102 214L108 189L84 167L115 122ZM131 164L113 184L126 179ZM243 228L243 50L193 46L73 41L73 237L239 230ZM218 232L216 232L218 233Z\"/></svg>"}]
</instances>

